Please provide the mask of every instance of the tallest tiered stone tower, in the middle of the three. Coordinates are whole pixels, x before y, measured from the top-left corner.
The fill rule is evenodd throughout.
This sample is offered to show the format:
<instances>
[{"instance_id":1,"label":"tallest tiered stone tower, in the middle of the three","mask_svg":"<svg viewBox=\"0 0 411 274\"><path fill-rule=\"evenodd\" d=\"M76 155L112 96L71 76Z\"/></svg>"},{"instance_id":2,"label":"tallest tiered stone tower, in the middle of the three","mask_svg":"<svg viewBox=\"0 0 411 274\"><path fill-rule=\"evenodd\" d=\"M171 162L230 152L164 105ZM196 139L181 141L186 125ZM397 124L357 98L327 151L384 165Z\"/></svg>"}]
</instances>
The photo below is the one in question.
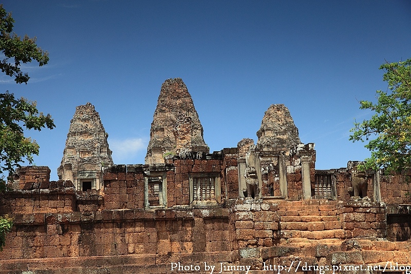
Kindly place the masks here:
<instances>
[{"instance_id":1,"label":"tallest tiered stone tower, in the middle of the three","mask_svg":"<svg viewBox=\"0 0 411 274\"><path fill-rule=\"evenodd\" d=\"M165 155L183 151L209 153L193 100L180 78L161 86L150 130L145 163L164 163Z\"/></svg>"}]
</instances>

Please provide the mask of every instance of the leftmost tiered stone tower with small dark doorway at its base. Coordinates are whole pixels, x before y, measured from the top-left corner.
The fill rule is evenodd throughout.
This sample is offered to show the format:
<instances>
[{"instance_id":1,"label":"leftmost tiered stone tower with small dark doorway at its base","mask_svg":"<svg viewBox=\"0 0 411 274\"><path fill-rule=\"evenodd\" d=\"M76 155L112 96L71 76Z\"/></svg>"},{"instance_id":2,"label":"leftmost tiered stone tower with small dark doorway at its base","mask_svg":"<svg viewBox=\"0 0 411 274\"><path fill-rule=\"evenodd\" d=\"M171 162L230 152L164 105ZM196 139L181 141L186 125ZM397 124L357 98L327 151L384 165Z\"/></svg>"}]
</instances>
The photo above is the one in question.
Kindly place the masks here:
<instances>
[{"instance_id":1,"label":"leftmost tiered stone tower with small dark doorway at its base","mask_svg":"<svg viewBox=\"0 0 411 274\"><path fill-rule=\"evenodd\" d=\"M70 122L63 159L57 170L59 179L72 181L77 190L100 189L102 168L113 165L107 137L94 105L78 106Z\"/></svg>"}]
</instances>

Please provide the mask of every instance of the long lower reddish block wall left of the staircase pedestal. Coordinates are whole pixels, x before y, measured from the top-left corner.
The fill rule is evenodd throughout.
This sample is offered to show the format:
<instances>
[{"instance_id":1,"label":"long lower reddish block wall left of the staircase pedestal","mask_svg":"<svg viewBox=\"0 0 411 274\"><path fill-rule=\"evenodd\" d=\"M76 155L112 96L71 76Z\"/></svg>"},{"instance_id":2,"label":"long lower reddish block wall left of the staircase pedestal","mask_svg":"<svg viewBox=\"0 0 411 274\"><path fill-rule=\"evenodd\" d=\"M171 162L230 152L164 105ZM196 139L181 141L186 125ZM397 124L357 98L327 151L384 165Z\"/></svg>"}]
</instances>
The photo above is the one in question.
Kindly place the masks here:
<instances>
[{"instance_id":1,"label":"long lower reddish block wall left of the staircase pedestal","mask_svg":"<svg viewBox=\"0 0 411 274\"><path fill-rule=\"evenodd\" d=\"M171 262L231 262L227 209L14 214L14 220L0 273L102 266L170 273Z\"/></svg>"}]
</instances>

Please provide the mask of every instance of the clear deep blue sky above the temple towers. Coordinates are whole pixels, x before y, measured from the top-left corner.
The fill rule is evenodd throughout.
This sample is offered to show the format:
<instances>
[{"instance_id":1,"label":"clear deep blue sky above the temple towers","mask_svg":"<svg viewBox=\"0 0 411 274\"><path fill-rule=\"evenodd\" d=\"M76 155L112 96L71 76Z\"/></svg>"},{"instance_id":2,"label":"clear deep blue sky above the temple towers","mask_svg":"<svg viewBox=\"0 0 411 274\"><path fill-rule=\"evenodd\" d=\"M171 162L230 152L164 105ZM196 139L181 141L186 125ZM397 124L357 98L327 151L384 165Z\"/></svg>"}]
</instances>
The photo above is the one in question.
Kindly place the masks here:
<instances>
[{"instance_id":1,"label":"clear deep blue sky above the temple towers","mask_svg":"<svg viewBox=\"0 0 411 274\"><path fill-rule=\"evenodd\" d=\"M3 1L14 31L37 37L50 62L24 66L2 92L36 100L57 127L27 132L37 166L57 180L70 120L90 102L117 164L143 163L161 84L189 89L211 151L256 132L270 104L289 109L316 168L370 156L348 140L358 100L386 90L379 66L411 58L409 1Z\"/></svg>"}]
</instances>

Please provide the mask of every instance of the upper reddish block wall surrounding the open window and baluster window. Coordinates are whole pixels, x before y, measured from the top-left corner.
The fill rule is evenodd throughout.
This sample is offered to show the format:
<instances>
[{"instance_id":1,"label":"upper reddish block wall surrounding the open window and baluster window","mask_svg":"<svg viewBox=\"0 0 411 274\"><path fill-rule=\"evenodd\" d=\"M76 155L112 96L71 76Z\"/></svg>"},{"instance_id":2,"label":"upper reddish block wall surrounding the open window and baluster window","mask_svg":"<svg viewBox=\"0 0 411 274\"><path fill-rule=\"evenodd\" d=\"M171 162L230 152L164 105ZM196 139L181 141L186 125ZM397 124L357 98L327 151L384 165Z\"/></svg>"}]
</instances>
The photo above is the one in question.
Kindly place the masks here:
<instances>
[{"instance_id":1,"label":"upper reddish block wall surrounding the open window and baluster window","mask_svg":"<svg viewBox=\"0 0 411 274\"><path fill-rule=\"evenodd\" d=\"M145 172L166 175L167 207L190 205L191 174L218 174L221 203L238 197L237 161L220 159L168 159L166 164L117 165L104 172L104 208L144 208ZM228 182L228 183L227 183Z\"/></svg>"}]
</instances>

